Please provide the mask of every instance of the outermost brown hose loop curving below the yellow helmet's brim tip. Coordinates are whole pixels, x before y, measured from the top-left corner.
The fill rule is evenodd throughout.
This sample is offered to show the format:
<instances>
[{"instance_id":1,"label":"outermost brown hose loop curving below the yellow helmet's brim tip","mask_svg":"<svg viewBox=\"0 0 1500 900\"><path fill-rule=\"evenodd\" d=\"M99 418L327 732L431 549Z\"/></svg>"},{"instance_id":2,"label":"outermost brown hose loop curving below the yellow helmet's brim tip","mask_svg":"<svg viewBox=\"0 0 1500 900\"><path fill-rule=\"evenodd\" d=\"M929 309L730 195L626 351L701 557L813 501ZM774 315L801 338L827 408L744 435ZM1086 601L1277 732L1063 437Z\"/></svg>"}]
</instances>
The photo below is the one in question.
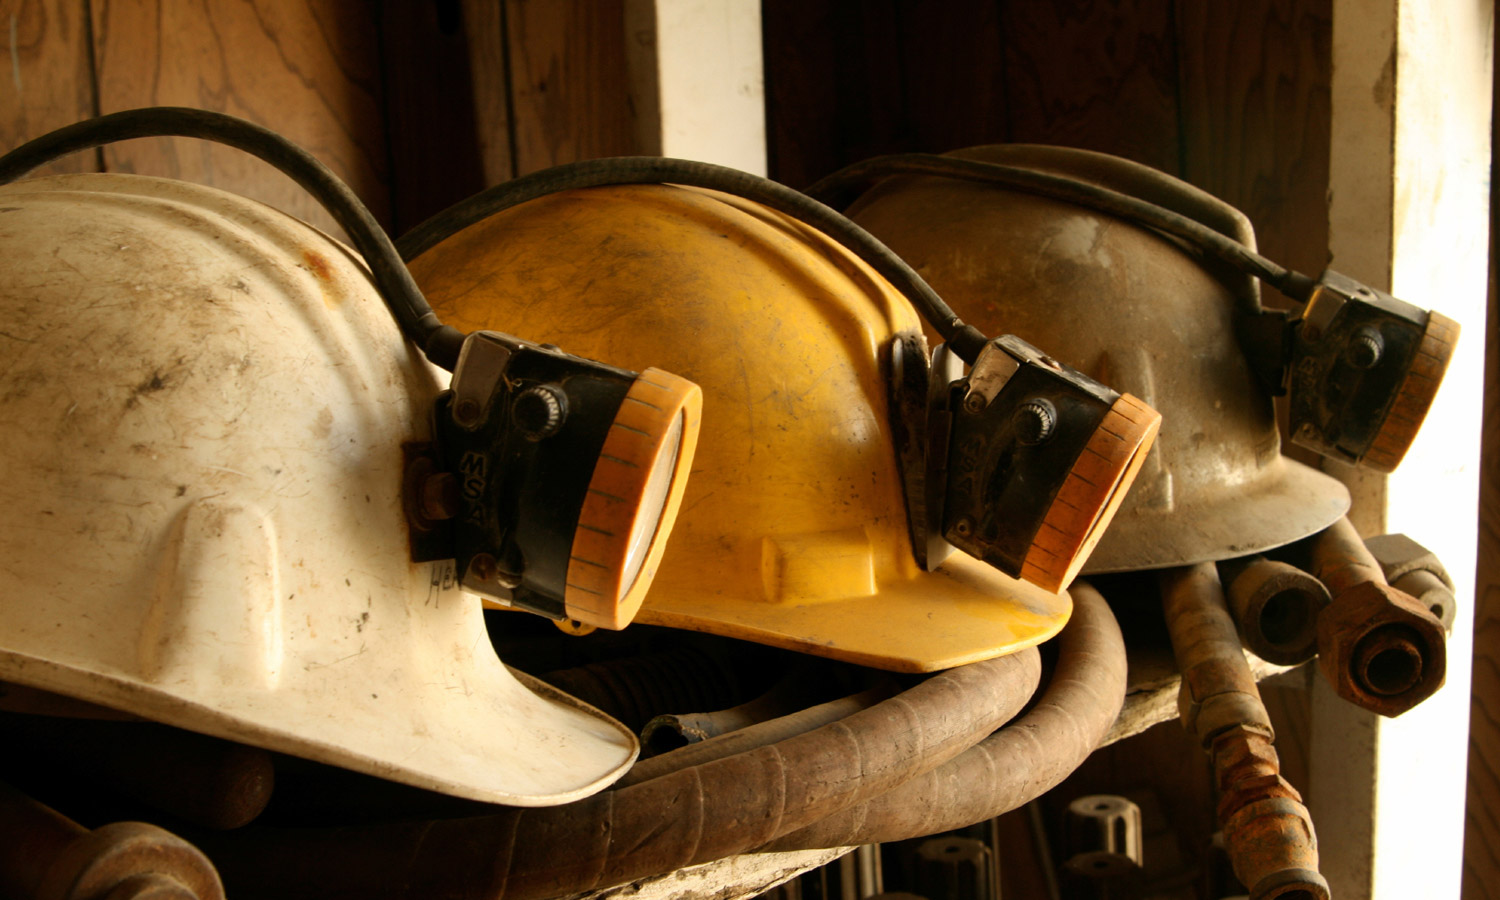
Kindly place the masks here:
<instances>
[{"instance_id":1,"label":"outermost brown hose loop curving below the yellow helmet's brim tip","mask_svg":"<svg viewBox=\"0 0 1500 900\"><path fill-rule=\"evenodd\" d=\"M1108 603L1074 582L1072 620L1036 706L952 762L759 848L904 840L1008 813L1056 788L1098 747L1125 702L1125 640Z\"/></svg>"}]
</instances>

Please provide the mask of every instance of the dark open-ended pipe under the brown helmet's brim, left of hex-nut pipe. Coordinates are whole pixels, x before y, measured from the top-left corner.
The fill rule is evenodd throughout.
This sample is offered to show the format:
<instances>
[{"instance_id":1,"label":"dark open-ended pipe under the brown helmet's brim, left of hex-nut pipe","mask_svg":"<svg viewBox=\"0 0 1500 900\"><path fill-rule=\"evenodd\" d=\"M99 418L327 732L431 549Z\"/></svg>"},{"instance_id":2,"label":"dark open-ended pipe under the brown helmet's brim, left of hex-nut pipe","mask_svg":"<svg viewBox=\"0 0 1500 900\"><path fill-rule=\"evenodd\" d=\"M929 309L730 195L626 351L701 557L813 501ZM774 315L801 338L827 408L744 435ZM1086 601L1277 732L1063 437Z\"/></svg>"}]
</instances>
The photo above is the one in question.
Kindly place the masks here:
<instances>
[{"instance_id":1,"label":"dark open-ended pipe under the brown helmet's brim, left of hex-nut pipe","mask_svg":"<svg viewBox=\"0 0 1500 900\"><path fill-rule=\"evenodd\" d=\"M1278 666L1317 656L1317 616L1329 603L1323 582L1264 556L1226 560L1218 570L1246 650Z\"/></svg>"}]
</instances>

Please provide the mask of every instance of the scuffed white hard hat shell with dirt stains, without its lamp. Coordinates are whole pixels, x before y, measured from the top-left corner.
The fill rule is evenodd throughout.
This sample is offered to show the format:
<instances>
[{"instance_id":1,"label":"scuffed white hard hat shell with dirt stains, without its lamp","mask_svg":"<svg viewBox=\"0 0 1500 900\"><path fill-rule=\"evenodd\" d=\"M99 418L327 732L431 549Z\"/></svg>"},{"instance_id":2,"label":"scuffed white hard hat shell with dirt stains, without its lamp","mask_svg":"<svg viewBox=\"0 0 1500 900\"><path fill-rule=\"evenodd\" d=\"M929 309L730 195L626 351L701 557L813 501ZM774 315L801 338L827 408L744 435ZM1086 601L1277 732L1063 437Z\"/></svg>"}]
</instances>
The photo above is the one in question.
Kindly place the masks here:
<instances>
[{"instance_id":1,"label":"scuffed white hard hat shell with dirt stains, without its lamp","mask_svg":"<svg viewBox=\"0 0 1500 900\"><path fill-rule=\"evenodd\" d=\"M0 188L0 680L447 794L564 802L622 726L412 564L436 370L350 250L132 176Z\"/></svg>"}]
</instances>

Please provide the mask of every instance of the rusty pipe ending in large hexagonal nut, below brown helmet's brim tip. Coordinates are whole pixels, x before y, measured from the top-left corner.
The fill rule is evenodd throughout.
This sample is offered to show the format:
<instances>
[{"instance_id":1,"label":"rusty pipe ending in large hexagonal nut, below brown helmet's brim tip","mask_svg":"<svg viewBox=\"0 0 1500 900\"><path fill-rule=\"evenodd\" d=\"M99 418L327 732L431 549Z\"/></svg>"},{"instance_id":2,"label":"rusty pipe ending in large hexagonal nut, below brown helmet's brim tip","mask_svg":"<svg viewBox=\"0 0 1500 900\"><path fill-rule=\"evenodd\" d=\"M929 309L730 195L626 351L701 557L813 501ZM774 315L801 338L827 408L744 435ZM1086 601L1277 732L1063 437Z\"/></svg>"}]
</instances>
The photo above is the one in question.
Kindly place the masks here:
<instances>
[{"instance_id":1,"label":"rusty pipe ending in large hexagonal nut, below brown helmet's brim tip","mask_svg":"<svg viewBox=\"0 0 1500 900\"><path fill-rule=\"evenodd\" d=\"M1437 693L1448 636L1426 604L1390 586L1348 519L1311 538L1310 560L1334 596L1318 615L1318 668L1338 696L1400 716Z\"/></svg>"}]
</instances>

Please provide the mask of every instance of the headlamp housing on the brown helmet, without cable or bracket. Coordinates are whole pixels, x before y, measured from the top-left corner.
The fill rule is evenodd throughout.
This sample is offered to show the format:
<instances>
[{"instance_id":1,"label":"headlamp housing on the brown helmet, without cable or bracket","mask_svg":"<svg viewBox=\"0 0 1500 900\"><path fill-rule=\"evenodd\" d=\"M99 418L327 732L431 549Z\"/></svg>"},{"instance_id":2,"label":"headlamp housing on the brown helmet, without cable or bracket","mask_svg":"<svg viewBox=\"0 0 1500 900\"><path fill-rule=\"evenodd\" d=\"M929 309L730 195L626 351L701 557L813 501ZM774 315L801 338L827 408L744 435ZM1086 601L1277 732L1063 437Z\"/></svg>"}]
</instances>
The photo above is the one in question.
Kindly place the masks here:
<instances>
[{"instance_id":1,"label":"headlamp housing on the brown helmet, without cable or bracket","mask_svg":"<svg viewBox=\"0 0 1500 900\"><path fill-rule=\"evenodd\" d=\"M1443 382L1458 322L1324 272L1288 327L1292 440L1395 471Z\"/></svg>"}]
</instances>

